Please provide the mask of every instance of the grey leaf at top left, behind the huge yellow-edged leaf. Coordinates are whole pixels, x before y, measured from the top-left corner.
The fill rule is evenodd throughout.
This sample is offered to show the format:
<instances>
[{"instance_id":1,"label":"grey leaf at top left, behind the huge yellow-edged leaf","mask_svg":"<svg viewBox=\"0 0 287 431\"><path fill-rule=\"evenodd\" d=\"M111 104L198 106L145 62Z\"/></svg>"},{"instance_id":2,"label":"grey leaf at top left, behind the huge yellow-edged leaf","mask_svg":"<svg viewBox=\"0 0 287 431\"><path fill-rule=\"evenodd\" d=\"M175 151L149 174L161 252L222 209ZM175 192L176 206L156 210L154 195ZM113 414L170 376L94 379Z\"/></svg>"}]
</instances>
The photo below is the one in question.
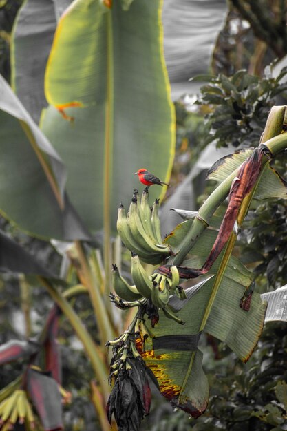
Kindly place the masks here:
<instances>
[{"instance_id":1,"label":"grey leaf at top left, behind the huge yellow-edged leaf","mask_svg":"<svg viewBox=\"0 0 287 431\"><path fill-rule=\"evenodd\" d=\"M71 0L25 0L14 23L12 34L12 87L39 122L47 106L44 74L59 15Z\"/></svg>"}]
</instances>

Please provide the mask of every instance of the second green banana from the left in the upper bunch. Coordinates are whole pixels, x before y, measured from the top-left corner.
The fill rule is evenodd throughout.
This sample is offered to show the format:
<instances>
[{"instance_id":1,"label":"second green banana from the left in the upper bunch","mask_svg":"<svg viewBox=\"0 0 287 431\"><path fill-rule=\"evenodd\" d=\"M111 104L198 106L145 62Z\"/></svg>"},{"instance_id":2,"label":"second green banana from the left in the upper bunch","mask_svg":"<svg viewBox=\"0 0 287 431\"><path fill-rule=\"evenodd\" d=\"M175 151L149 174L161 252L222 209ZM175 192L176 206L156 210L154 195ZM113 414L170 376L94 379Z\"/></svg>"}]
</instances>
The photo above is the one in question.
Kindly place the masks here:
<instances>
[{"instance_id":1,"label":"second green banana from the left in the upper bunch","mask_svg":"<svg viewBox=\"0 0 287 431\"><path fill-rule=\"evenodd\" d=\"M145 228L142 226L140 216L137 211L137 200L133 197L129 206L129 216L127 218L129 227L131 228L131 235L134 241L138 243L140 248L149 253L158 253L162 255L169 255L170 250L168 246L162 244L154 244L147 235Z\"/></svg>"}]
</instances>

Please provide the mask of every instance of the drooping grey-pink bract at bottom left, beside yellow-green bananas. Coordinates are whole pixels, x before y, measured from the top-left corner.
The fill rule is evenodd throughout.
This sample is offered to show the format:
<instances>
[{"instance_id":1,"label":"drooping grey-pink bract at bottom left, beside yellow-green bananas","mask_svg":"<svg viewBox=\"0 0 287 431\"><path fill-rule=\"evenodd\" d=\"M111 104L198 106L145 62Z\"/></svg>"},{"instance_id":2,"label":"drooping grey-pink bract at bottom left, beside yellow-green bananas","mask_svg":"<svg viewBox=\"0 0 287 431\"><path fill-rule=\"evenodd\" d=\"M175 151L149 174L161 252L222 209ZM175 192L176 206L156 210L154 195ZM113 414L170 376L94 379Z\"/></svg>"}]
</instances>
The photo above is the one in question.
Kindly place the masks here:
<instances>
[{"instance_id":1,"label":"drooping grey-pink bract at bottom left, beside yellow-green bananas","mask_svg":"<svg viewBox=\"0 0 287 431\"><path fill-rule=\"evenodd\" d=\"M27 388L45 431L63 430L61 395L52 377L29 368Z\"/></svg>"}]
</instances>

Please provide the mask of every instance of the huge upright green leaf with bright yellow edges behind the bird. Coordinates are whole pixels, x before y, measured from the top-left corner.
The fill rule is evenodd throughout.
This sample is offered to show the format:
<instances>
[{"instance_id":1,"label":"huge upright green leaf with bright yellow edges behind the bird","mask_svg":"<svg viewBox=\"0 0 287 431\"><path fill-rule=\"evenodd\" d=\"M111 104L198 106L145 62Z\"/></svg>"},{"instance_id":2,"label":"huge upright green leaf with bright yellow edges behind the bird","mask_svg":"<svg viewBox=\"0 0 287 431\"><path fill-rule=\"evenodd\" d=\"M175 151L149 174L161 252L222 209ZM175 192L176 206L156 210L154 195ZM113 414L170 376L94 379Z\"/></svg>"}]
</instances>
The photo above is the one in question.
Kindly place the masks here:
<instances>
[{"instance_id":1,"label":"huge upright green leaf with bright yellow edges behind the bird","mask_svg":"<svg viewBox=\"0 0 287 431\"><path fill-rule=\"evenodd\" d=\"M56 30L45 77L55 107L41 127L65 161L69 195L93 230L103 226L105 199L115 227L118 204L129 204L134 188L142 188L137 169L162 180L170 174L174 118L160 8L158 0L134 0L129 10L120 2L107 9L98 0L77 0ZM69 107L77 104L83 107ZM59 114L63 108L73 123ZM151 199L161 192L154 186Z\"/></svg>"}]
</instances>

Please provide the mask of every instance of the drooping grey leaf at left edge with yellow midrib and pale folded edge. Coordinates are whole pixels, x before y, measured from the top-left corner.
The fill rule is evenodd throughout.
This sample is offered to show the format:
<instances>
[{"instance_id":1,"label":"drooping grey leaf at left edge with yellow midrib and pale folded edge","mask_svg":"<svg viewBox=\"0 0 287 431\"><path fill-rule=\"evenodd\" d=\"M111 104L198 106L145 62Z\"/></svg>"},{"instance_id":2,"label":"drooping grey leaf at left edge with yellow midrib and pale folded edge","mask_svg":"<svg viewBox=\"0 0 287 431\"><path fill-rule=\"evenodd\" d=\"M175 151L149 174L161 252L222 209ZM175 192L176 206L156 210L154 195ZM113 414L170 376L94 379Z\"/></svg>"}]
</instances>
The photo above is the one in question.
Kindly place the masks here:
<instances>
[{"instance_id":1,"label":"drooping grey leaf at left edge with yellow midrib and pale folded edge","mask_svg":"<svg viewBox=\"0 0 287 431\"><path fill-rule=\"evenodd\" d=\"M89 238L65 194L61 158L0 76L0 212L41 238Z\"/></svg>"}]
</instances>

